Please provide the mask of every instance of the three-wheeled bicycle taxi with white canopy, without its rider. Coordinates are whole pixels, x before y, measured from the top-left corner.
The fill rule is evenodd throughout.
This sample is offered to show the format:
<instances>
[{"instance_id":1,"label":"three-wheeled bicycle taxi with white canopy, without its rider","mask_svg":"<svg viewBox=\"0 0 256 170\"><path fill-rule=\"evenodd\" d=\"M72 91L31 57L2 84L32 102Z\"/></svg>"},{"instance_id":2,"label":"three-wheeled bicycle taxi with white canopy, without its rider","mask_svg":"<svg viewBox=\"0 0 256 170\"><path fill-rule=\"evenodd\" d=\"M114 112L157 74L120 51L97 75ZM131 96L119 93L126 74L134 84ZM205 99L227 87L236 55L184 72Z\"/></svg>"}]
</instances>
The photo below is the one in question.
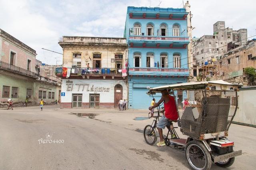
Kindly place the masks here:
<instances>
[{"instance_id":1,"label":"three-wheeled bicycle taxi with white canopy, without its rider","mask_svg":"<svg viewBox=\"0 0 256 170\"><path fill-rule=\"evenodd\" d=\"M175 91L183 91L190 101L184 111L177 107L178 126L188 137L179 138L175 131L178 127L172 127L164 136L165 144L184 152L192 169L208 170L212 162L224 168L231 166L235 156L242 154L242 150L233 150L234 142L227 138L238 105L238 85L222 80L179 83L150 88L148 95L164 89L174 97ZM150 145L157 140L155 128L161 117L160 112L158 107L154 114L149 113L149 118L154 118L154 121L144 128L144 139Z\"/></svg>"}]
</instances>

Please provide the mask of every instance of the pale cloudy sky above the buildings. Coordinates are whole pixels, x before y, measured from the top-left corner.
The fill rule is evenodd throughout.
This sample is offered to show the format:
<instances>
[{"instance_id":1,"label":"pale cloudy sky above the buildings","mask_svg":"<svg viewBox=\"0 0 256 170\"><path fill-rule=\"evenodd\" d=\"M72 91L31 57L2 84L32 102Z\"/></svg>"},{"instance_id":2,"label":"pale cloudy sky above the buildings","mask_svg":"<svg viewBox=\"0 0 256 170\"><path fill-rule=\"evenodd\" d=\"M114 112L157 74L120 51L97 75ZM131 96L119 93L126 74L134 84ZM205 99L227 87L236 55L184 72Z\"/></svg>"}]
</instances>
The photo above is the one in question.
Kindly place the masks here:
<instances>
[{"instance_id":1,"label":"pale cloudy sky above the buildings","mask_svg":"<svg viewBox=\"0 0 256 170\"><path fill-rule=\"evenodd\" d=\"M184 3L186 0L184 0ZM256 35L254 0L190 0L193 37L213 34L213 24L247 28ZM62 36L122 37L127 6L182 8L182 0L0 0L0 28L36 50L37 59L61 64ZM256 38L256 37L254 37Z\"/></svg>"}]
</instances>

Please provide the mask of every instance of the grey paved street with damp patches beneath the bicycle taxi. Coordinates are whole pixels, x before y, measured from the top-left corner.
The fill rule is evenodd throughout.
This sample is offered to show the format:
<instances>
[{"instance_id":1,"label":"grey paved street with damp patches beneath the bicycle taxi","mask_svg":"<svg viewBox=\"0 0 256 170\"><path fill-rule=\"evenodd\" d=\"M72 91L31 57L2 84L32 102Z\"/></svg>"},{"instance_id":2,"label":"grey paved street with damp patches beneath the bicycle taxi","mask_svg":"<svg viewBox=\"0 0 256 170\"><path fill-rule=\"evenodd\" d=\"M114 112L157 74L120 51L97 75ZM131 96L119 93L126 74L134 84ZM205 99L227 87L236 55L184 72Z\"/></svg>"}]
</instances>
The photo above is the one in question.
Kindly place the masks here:
<instances>
[{"instance_id":1,"label":"grey paved street with damp patches beneath the bicycle taxi","mask_svg":"<svg viewBox=\"0 0 256 170\"><path fill-rule=\"evenodd\" d=\"M189 169L184 153L146 144L143 128L152 120L134 118L147 112L58 106L0 110L0 169ZM58 143L42 143L46 138ZM243 155L228 169L254 169L256 129L232 124L229 139ZM212 169L221 168L213 164Z\"/></svg>"}]
</instances>

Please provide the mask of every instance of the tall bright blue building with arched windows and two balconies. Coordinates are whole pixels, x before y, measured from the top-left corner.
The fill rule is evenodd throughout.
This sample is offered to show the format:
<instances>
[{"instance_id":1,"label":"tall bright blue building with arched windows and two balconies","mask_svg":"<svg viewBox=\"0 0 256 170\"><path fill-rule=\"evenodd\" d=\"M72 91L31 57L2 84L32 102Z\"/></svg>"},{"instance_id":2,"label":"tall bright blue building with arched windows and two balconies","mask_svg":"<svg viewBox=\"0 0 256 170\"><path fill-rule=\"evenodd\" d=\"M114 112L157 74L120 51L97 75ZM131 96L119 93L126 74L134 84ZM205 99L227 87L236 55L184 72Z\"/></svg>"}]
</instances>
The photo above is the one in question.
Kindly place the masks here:
<instances>
[{"instance_id":1,"label":"tall bright blue building with arched windows and two balconies","mask_svg":"<svg viewBox=\"0 0 256 170\"><path fill-rule=\"evenodd\" d=\"M127 8L129 108L148 108L152 96L146 95L146 87L187 82L187 15L185 8ZM186 94L176 95L181 104Z\"/></svg>"}]
</instances>

